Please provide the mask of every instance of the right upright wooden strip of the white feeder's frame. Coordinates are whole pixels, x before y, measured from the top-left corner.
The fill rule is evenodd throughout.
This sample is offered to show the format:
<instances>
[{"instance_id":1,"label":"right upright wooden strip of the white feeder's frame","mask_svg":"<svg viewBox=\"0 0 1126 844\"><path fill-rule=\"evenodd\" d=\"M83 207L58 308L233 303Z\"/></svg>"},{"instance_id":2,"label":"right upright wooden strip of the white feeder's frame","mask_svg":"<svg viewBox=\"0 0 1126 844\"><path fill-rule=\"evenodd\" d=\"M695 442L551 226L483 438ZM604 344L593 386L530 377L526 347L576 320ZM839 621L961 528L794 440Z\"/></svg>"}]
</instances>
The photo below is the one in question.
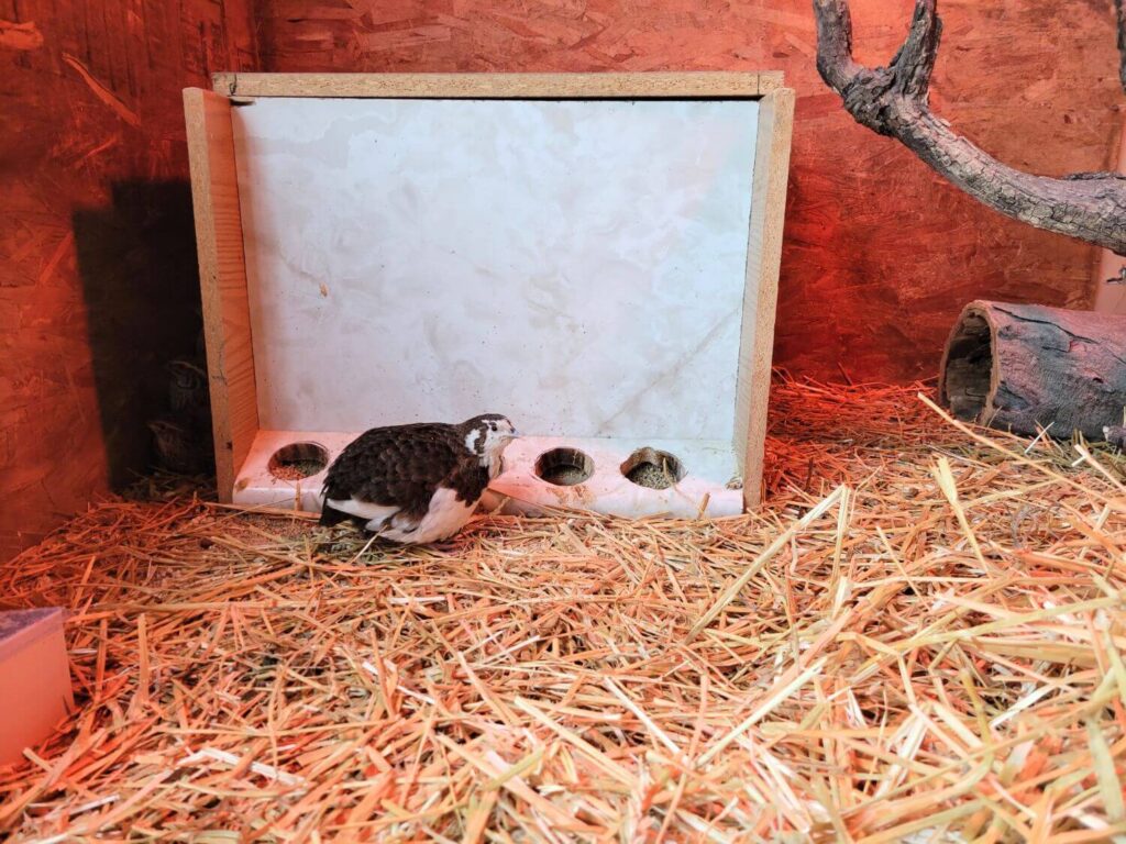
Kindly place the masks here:
<instances>
[{"instance_id":1,"label":"right upright wooden strip of the white feeder's frame","mask_svg":"<svg viewBox=\"0 0 1126 844\"><path fill-rule=\"evenodd\" d=\"M781 269L786 188L794 129L794 91L779 88L759 102L751 226L747 246L743 334L735 397L735 454L743 470L743 505L762 501L762 458L774 358L775 311Z\"/></svg>"}]
</instances>

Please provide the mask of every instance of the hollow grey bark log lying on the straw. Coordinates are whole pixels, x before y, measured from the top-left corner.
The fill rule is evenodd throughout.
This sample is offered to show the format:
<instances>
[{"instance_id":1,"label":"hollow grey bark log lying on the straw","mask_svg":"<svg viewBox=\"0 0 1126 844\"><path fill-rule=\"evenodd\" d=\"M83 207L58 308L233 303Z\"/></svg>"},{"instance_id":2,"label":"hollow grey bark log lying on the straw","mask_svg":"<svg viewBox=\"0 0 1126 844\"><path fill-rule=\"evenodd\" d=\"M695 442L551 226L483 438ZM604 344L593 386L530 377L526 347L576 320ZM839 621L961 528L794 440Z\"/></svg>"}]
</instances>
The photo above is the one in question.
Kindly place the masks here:
<instances>
[{"instance_id":1,"label":"hollow grey bark log lying on the straw","mask_svg":"<svg viewBox=\"0 0 1126 844\"><path fill-rule=\"evenodd\" d=\"M972 302L940 371L939 399L959 419L1102 440L1126 424L1126 316Z\"/></svg>"}]
</instances>

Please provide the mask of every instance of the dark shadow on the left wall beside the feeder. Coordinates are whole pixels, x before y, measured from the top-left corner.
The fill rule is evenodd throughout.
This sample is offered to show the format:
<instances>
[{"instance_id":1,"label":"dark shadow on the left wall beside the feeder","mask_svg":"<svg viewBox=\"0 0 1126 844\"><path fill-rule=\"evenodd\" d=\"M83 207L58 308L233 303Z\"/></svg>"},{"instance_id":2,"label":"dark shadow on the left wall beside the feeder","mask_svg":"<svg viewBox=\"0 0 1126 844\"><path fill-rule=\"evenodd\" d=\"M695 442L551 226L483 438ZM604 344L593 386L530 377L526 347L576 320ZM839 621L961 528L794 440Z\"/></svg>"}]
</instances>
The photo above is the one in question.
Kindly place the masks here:
<instances>
[{"instance_id":1,"label":"dark shadow on the left wall beside the feeder","mask_svg":"<svg viewBox=\"0 0 1126 844\"><path fill-rule=\"evenodd\" d=\"M118 182L73 225L111 487L211 472L189 183Z\"/></svg>"}]
</instances>

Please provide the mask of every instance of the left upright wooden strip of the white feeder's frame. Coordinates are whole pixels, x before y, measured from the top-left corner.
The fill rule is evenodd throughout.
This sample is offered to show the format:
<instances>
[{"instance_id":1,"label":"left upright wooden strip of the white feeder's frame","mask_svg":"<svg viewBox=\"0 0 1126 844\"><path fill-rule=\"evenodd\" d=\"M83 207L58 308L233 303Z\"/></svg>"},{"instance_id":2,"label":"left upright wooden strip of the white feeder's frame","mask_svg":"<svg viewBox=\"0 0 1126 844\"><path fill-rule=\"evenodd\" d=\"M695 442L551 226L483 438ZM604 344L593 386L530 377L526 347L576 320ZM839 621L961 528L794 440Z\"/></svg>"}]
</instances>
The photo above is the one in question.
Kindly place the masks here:
<instances>
[{"instance_id":1,"label":"left upright wooden strip of the white feeder's frame","mask_svg":"<svg viewBox=\"0 0 1126 844\"><path fill-rule=\"evenodd\" d=\"M215 475L220 501L230 502L235 474L258 434L258 395L231 101L200 88L187 88L184 115L207 341Z\"/></svg>"}]
</instances>

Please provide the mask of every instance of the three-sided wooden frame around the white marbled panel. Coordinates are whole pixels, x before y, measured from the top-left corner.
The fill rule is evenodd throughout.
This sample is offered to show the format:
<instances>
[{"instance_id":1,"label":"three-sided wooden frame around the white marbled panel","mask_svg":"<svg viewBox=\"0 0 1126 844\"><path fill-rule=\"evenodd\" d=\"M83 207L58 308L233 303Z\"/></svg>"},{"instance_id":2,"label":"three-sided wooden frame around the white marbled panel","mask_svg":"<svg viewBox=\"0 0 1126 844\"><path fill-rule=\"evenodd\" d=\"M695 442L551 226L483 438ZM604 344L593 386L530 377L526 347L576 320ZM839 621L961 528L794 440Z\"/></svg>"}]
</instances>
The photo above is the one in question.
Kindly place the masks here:
<instances>
[{"instance_id":1,"label":"three-sided wooden frame around the white marbled panel","mask_svg":"<svg viewBox=\"0 0 1126 844\"><path fill-rule=\"evenodd\" d=\"M186 89L184 105L221 501L231 501L259 430L231 106L258 97L331 97L758 100L733 445L744 506L761 502L794 117L794 91L783 87L781 73L217 73L213 87Z\"/></svg>"}]
</instances>

